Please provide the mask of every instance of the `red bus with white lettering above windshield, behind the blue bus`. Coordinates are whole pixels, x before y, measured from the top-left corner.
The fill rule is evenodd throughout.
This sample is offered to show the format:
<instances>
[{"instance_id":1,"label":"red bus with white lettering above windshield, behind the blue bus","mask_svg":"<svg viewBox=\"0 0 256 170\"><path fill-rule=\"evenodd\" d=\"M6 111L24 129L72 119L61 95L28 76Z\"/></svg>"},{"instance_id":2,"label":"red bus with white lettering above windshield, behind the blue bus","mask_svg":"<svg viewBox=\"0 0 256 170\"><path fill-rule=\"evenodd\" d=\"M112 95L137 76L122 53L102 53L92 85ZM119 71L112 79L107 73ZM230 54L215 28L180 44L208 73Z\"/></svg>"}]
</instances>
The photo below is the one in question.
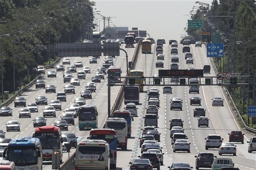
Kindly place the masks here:
<instances>
[{"instance_id":1,"label":"red bus with white lettering above windshield, behind the blue bus","mask_svg":"<svg viewBox=\"0 0 256 170\"><path fill-rule=\"evenodd\" d=\"M52 153L58 150L60 153L60 162L62 162L62 137L59 127L43 126L38 127L33 137L39 138L42 145L43 161L51 161Z\"/></svg>"}]
</instances>

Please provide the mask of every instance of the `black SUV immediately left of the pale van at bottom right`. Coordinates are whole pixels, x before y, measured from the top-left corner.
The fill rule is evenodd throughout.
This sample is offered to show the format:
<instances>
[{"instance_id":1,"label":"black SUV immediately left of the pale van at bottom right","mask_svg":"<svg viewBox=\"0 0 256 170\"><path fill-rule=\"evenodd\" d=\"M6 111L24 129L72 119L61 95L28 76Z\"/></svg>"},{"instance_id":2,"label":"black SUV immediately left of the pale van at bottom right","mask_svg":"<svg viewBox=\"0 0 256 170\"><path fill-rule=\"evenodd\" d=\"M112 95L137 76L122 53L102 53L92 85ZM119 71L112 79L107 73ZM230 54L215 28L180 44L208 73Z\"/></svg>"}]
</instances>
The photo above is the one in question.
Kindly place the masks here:
<instances>
[{"instance_id":1,"label":"black SUV immediately left of the pale van at bottom right","mask_svg":"<svg viewBox=\"0 0 256 170\"><path fill-rule=\"evenodd\" d=\"M208 152L200 152L198 155L195 156L196 158L196 169L198 170L199 168L211 168L214 158L217 156L214 156L213 153L208 153Z\"/></svg>"}]
</instances>

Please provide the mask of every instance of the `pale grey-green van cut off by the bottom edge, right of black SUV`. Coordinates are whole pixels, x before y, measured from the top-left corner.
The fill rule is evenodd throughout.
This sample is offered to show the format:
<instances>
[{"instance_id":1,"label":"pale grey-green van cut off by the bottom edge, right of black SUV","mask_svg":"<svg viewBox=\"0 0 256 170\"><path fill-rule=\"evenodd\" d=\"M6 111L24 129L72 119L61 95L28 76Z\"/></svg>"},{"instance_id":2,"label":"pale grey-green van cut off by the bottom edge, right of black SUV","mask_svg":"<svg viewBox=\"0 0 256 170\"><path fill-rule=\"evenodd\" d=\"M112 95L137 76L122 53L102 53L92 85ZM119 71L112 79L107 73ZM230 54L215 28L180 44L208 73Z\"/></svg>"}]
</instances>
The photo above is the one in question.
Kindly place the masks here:
<instances>
[{"instance_id":1,"label":"pale grey-green van cut off by the bottom edge, right of black SUV","mask_svg":"<svg viewBox=\"0 0 256 170\"><path fill-rule=\"evenodd\" d=\"M209 163L211 165L211 163ZM231 158L214 158L212 162L212 170L219 170L220 168L234 168L234 163Z\"/></svg>"}]
</instances>

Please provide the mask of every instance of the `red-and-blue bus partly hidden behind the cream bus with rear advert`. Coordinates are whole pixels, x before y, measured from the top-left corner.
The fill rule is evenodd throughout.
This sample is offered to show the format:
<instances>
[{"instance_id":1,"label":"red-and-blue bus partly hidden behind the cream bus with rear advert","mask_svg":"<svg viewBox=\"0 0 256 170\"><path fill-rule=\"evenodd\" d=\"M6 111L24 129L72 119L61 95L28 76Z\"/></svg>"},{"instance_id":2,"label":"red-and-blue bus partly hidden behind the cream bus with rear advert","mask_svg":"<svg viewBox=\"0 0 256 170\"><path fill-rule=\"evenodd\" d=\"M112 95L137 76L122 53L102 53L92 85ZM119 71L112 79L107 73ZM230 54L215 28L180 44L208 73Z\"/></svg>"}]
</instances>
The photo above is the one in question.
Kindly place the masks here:
<instances>
[{"instance_id":1,"label":"red-and-blue bus partly hidden behind the cream bus with rear advert","mask_svg":"<svg viewBox=\"0 0 256 170\"><path fill-rule=\"evenodd\" d=\"M90 131L89 139L92 140L105 140L111 151L110 155L110 169L116 169L116 152L117 152L117 138L114 129L97 128Z\"/></svg>"}]
</instances>

